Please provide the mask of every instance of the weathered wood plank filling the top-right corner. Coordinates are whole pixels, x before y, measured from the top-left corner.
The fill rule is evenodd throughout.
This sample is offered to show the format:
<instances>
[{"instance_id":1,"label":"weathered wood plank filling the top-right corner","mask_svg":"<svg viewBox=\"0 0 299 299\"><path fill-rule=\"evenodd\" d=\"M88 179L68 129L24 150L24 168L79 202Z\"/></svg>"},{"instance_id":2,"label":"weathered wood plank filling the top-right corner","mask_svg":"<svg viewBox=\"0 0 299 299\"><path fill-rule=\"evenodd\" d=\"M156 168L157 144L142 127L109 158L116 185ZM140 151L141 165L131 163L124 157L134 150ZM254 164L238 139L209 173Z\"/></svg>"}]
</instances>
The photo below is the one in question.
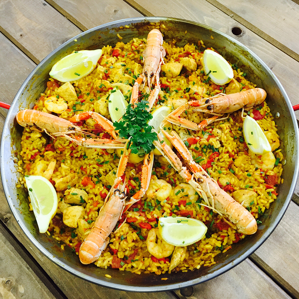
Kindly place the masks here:
<instances>
[{"instance_id":1,"label":"weathered wood plank filling the top-right corner","mask_svg":"<svg viewBox=\"0 0 299 299\"><path fill-rule=\"evenodd\" d=\"M245 19L277 42L299 53L299 5L292 0L218 0L215 4L211 3L217 7L217 2L231 10L234 19L238 20L238 17ZM262 37L267 39L265 35Z\"/></svg>"}]
</instances>

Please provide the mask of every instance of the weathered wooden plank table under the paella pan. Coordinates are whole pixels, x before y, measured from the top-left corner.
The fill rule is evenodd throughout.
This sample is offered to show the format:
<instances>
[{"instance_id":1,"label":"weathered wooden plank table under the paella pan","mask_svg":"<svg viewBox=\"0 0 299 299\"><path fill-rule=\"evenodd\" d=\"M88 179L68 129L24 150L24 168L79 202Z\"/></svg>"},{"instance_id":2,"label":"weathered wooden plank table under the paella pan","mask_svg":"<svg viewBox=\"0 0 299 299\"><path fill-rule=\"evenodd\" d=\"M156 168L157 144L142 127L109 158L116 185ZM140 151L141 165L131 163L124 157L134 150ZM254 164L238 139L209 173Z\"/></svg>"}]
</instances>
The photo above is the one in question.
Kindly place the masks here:
<instances>
[{"instance_id":1,"label":"weathered wooden plank table under the paella pan","mask_svg":"<svg viewBox=\"0 0 299 299\"><path fill-rule=\"evenodd\" d=\"M1 0L0 101L11 103L33 68L78 33L119 19L169 16L216 28L250 48L271 68L295 105L298 4L298 0ZM6 114L0 109L1 132ZM254 254L220 277L194 286L190 298L299 298L298 192L299 185L280 224ZM12 216L2 187L0 205L0 298L174 299L192 293L188 293L192 288L128 293L87 283L32 246Z\"/></svg>"}]
</instances>

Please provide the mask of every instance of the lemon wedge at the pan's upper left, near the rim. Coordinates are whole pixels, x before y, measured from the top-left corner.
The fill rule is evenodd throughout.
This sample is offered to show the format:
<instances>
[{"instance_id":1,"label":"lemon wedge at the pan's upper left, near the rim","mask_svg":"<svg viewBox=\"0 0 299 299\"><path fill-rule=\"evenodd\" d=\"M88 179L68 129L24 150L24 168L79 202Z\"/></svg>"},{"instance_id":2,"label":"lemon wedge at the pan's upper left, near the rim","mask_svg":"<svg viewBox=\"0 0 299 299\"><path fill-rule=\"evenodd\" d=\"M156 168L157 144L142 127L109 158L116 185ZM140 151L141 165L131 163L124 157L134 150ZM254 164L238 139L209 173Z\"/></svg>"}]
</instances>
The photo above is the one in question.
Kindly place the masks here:
<instances>
[{"instance_id":1,"label":"lemon wedge at the pan's upper left, near the rim","mask_svg":"<svg viewBox=\"0 0 299 299\"><path fill-rule=\"evenodd\" d=\"M102 53L101 49L71 53L57 61L49 75L60 82L79 80L94 70Z\"/></svg>"}]
</instances>

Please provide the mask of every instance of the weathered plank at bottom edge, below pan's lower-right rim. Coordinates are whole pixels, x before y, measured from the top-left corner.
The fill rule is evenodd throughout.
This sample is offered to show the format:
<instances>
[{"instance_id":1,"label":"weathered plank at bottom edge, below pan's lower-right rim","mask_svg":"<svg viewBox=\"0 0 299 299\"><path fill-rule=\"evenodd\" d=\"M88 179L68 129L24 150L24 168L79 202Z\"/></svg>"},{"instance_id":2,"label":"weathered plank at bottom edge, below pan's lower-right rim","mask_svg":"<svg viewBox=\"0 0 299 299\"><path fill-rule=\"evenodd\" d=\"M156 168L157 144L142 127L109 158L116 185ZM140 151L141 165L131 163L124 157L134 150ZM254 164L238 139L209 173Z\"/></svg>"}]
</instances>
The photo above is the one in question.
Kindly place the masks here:
<instances>
[{"instance_id":1,"label":"weathered plank at bottom edge, below pan's lower-right rim","mask_svg":"<svg viewBox=\"0 0 299 299\"><path fill-rule=\"evenodd\" d=\"M193 286L193 295L189 299L242 298L242 299L278 299L291 298L250 260L245 260L228 272ZM185 298L177 290L179 298Z\"/></svg>"}]
</instances>

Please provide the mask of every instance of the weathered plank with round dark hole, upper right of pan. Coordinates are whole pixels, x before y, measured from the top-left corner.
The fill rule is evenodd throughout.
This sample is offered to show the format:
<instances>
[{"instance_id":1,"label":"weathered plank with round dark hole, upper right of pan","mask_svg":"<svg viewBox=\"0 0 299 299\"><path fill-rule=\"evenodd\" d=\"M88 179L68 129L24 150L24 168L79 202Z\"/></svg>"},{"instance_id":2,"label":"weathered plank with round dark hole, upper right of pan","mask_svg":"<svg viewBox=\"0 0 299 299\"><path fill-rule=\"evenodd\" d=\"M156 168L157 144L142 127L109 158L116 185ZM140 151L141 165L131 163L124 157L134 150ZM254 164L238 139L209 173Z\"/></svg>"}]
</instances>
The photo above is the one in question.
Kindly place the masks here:
<instances>
[{"instance_id":1,"label":"weathered plank with round dark hole, upper right of pan","mask_svg":"<svg viewBox=\"0 0 299 299\"><path fill-rule=\"evenodd\" d=\"M128 0L128 2L130 3L130 0ZM205 0L186 0L184 2L177 0L167 2L159 0L152 0L150 2L137 0L136 2L153 15L176 17L199 22L237 39L257 54L269 66L282 83L292 104L295 105L299 103L299 99L296 96L299 92L299 62L269 44L212 4ZM171 10L169 7L171 7ZM235 36L231 32L231 28L236 26L241 28L243 32L239 36ZM292 80L290 80L290 78L292 78ZM296 112L296 116L299 118L299 112Z\"/></svg>"}]
</instances>

